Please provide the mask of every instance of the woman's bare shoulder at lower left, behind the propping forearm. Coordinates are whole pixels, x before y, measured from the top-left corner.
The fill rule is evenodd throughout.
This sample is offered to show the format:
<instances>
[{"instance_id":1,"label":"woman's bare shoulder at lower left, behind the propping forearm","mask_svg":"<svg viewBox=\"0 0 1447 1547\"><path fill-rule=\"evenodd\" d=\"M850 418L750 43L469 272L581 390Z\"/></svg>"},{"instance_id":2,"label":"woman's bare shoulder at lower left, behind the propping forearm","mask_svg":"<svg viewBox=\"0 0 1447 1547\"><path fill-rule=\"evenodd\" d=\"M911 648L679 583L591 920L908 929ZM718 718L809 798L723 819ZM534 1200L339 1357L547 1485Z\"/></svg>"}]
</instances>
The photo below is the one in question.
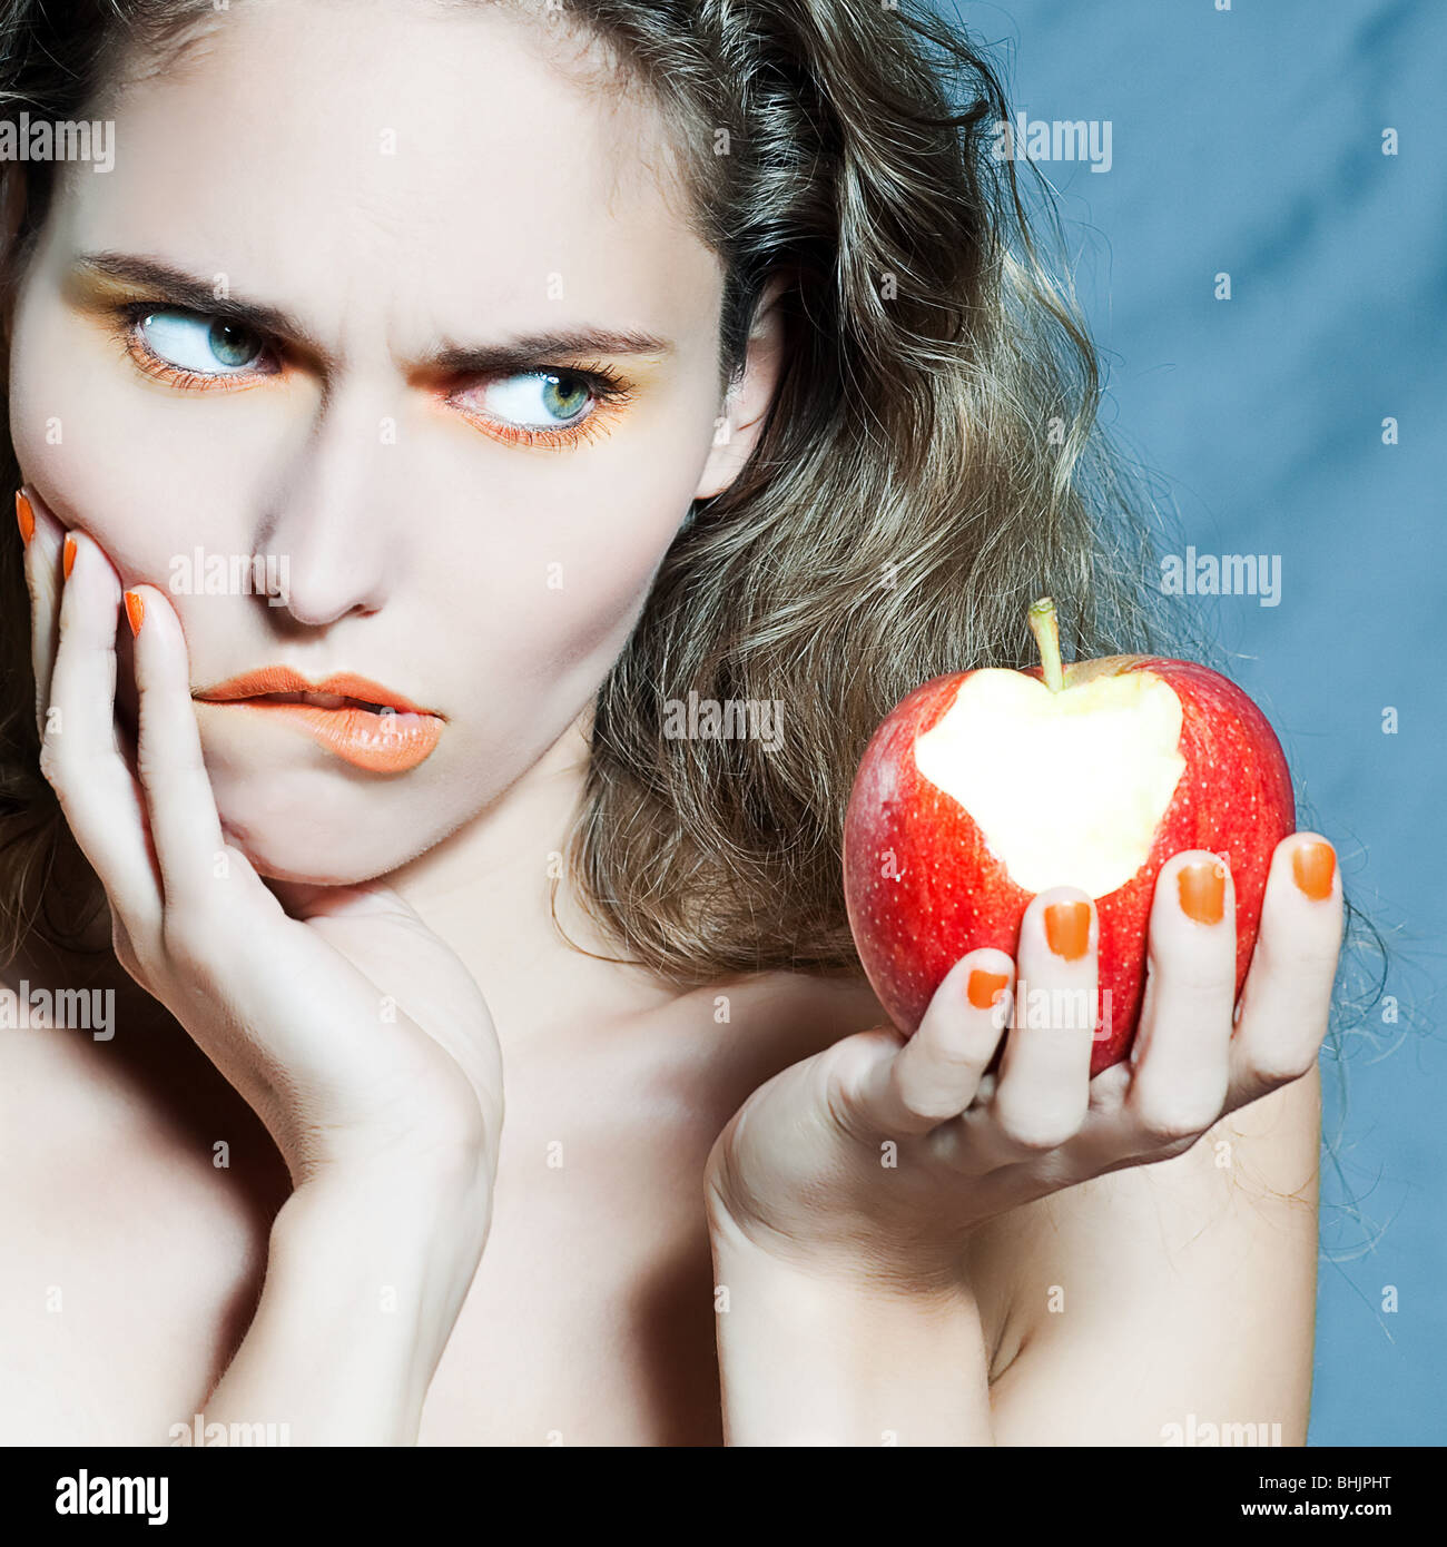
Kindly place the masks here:
<instances>
[{"instance_id":1,"label":"woman's bare shoulder at lower left, behind the propping forearm","mask_svg":"<svg viewBox=\"0 0 1447 1547\"><path fill-rule=\"evenodd\" d=\"M76 1024L54 984L0 972L0 1443L161 1440L245 1329L265 1222L124 1072L135 1027Z\"/></svg>"}]
</instances>

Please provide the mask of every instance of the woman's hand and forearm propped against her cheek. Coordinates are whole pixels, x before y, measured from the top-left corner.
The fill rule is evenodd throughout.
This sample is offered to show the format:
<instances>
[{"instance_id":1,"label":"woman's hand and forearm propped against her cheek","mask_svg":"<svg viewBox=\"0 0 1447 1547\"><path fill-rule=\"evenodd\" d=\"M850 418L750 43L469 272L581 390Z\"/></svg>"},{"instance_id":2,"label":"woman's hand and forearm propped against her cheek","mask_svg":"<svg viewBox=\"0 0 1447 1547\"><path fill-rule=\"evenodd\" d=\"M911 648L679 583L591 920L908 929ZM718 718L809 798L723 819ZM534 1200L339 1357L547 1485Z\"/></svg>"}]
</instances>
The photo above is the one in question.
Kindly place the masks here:
<instances>
[{"instance_id":1,"label":"woman's hand and forearm propped against her cheek","mask_svg":"<svg viewBox=\"0 0 1447 1547\"><path fill-rule=\"evenodd\" d=\"M378 883L265 882L227 842L180 619L29 504L42 770L105 888L121 965L260 1115L294 1185L209 1422L409 1442L483 1250L501 1054L477 984ZM285 900L283 900L285 899ZM159 1439L159 1436L158 1436Z\"/></svg>"}]
</instances>

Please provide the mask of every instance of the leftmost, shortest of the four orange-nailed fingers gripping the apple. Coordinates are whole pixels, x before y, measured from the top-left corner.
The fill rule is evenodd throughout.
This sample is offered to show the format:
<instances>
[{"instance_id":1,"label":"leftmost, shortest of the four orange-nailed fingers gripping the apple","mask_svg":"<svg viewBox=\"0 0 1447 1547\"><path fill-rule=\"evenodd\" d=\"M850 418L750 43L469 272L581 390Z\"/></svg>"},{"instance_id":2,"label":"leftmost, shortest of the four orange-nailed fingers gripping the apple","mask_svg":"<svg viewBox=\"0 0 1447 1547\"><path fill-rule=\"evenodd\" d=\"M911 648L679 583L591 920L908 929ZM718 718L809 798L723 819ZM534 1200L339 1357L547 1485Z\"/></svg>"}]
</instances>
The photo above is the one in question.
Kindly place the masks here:
<instances>
[{"instance_id":1,"label":"leftmost, shortest of the four orange-nailed fingers gripping the apple","mask_svg":"<svg viewBox=\"0 0 1447 1547\"><path fill-rule=\"evenodd\" d=\"M970 951L946 973L919 1030L870 1071L864 1100L882 1132L922 1134L970 1105L1003 1035L1014 976L1015 964L995 950Z\"/></svg>"}]
</instances>

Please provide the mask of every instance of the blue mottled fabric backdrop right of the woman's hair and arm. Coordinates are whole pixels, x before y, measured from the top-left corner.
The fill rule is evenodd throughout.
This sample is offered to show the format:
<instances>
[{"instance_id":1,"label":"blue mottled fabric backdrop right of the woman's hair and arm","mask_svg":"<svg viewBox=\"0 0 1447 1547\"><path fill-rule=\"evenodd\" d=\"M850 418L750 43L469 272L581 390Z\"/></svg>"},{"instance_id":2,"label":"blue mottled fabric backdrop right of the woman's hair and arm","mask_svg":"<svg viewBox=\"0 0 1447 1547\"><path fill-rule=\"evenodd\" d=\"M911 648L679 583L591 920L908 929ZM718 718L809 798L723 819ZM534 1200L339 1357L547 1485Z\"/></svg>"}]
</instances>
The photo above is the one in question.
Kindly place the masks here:
<instances>
[{"instance_id":1,"label":"blue mottled fabric backdrop right of the woman's hair and arm","mask_svg":"<svg viewBox=\"0 0 1447 1547\"><path fill-rule=\"evenodd\" d=\"M936 3L1000 45L1017 110L1111 122L1108 172L1042 164L1105 418L1198 552L1281 555L1280 605L1223 597L1215 634L1281 736L1302 825L1388 939L1401 1007L1323 1058L1342 1171L1323 1173L1311 1443L1442 1443L1447 3Z\"/></svg>"}]
</instances>

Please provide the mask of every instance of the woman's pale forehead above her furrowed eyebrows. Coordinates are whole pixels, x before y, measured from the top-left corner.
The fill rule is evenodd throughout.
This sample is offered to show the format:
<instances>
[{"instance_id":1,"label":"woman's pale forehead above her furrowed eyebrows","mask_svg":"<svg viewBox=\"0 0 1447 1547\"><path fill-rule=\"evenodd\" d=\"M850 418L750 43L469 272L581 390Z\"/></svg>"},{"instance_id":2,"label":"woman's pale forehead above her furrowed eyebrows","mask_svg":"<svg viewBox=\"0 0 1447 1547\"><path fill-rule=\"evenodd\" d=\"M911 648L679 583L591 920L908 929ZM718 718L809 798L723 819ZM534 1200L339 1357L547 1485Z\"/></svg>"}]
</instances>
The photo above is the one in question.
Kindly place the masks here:
<instances>
[{"instance_id":1,"label":"woman's pale forehead above her furrowed eyebrows","mask_svg":"<svg viewBox=\"0 0 1447 1547\"><path fill-rule=\"evenodd\" d=\"M77 248L224 274L323 333L717 320L658 108L540 19L243 0L164 70L122 63L87 110L115 169L65 179Z\"/></svg>"}]
</instances>

